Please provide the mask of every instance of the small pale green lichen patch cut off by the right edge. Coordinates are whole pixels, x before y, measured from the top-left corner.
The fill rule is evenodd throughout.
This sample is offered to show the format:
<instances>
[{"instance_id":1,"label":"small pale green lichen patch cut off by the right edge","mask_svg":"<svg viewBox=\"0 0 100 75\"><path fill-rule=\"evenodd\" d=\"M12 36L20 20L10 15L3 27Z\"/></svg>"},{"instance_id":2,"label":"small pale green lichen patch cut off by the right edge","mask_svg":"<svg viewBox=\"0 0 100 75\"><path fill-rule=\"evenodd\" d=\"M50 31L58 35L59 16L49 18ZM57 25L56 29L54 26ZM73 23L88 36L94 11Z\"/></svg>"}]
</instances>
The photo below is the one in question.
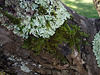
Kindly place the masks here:
<instances>
[{"instance_id":1,"label":"small pale green lichen patch cut off by the right edge","mask_svg":"<svg viewBox=\"0 0 100 75\"><path fill-rule=\"evenodd\" d=\"M94 36L93 52L96 56L98 67L100 67L100 31Z\"/></svg>"}]
</instances>

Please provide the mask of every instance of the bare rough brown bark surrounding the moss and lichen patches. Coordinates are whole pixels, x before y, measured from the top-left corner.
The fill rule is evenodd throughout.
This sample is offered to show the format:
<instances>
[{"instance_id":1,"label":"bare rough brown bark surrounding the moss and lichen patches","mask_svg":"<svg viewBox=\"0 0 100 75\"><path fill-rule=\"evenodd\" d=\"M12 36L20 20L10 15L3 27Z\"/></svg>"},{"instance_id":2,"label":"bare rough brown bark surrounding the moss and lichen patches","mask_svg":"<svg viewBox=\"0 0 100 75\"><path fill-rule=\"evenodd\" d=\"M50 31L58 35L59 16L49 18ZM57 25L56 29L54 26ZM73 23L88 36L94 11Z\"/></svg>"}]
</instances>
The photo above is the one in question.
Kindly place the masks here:
<instances>
[{"instance_id":1,"label":"bare rough brown bark surrounding the moss and lichen patches","mask_svg":"<svg viewBox=\"0 0 100 75\"><path fill-rule=\"evenodd\" d=\"M2 1L2 0L0 0ZM64 4L63 4L64 5ZM90 34L86 40L92 44L94 35L100 30L100 19L86 18L64 5L74 18L68 24L76 24ZM61 64L58 59L42 52L34 55L33 51L21 48L23 39L0 25L0 70L10 75L100 75L92 46L84 46L81 53L73 50L66 55L68 64ZM62 51L69 51L66 44Z\"/></svg>"}]
</instances>

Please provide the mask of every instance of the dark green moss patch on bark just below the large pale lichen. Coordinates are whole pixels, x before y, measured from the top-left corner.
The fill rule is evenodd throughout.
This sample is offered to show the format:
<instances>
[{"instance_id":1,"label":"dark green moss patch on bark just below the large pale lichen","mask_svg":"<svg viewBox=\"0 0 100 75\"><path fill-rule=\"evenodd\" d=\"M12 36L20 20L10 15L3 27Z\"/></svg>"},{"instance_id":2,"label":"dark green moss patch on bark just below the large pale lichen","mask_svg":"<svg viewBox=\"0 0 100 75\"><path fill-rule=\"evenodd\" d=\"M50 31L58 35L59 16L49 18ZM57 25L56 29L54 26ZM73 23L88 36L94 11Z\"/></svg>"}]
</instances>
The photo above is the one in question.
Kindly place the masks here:
<instances>
[{"instance_id":1,"label":"dark green moss patch on bark just below the large pale lichen","mask_svg":"<svg viewBox=\"0 0 100 75\"><path fill-rule=\"evenodd\" d=\"M30 36L25 40L23 48L32 49L36 54L45 50L45 52L49 52L60 60L65 61L64 56L60 54L58 45L65 42L72 49L75 47L80 50L80 44L83 44L84 37L88 37L88 35L82 32L77 25L69 26L67 22L65 22L50 38L44 39Z\"/></svg>"}]
</instances>

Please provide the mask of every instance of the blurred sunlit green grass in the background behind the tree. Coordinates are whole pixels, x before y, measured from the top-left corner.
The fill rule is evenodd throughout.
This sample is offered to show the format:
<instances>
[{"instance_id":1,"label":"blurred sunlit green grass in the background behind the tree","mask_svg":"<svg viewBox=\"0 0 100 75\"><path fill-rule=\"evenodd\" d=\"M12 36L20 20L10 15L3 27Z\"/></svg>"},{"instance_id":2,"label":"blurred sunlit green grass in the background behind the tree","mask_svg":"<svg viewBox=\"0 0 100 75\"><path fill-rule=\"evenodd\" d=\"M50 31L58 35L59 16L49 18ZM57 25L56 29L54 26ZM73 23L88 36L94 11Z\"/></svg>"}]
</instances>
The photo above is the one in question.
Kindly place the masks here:
<instances>
[{"instance_id":1,"label":"blurred sunlit green grass in the background behind the tree","mask_svg":"<svg viewBox=\"0 0 100 75\"><path fill-rule=\"evenodd\" d=\"M99 18L93 0L61 0L78 14L88 18Z\"/></svg>"}]
</instances>

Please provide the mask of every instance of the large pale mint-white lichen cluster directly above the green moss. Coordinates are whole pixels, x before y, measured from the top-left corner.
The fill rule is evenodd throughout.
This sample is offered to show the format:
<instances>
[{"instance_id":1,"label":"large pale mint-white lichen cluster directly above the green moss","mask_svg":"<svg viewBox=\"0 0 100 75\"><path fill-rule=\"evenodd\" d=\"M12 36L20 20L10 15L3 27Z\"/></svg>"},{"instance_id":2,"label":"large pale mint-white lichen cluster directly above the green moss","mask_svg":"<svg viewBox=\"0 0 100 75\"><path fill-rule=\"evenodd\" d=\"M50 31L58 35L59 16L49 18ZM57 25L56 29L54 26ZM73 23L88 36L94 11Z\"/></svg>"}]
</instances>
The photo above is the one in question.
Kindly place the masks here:
<instances>
[{"instance_id":1,"label":"large pale mint-white lichen cluster directly above the green moss","mask_svg":"<svg viewBox=\"0 0 100 75\"><path fill-rule=\"evenodd\" d=\"M70 18L70 14L59 0L5 0L5 6L11 6L14 2L15 16L21 19L21 23L7 27L23 38L28 38L29 35L49 38Z\"/></svg>"}]
</instances>

